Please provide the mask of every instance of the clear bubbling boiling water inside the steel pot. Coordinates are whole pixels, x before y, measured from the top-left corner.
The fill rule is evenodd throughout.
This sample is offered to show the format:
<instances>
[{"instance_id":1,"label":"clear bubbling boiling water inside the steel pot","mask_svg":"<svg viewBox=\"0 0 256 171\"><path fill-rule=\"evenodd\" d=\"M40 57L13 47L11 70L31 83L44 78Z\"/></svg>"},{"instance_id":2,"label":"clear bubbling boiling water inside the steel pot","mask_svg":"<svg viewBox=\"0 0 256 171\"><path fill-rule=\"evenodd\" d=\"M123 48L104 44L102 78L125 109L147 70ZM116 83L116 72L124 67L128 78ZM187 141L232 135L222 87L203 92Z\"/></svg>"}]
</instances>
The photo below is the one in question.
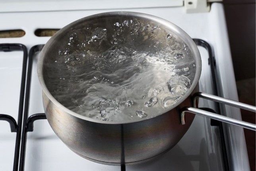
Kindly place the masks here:
<instances>
[{"instance_id":1,"label":"clear bubbling boiling water inside the steel pot","mask_svg":"<svg viewBox=\"0 0 256 171\"><path fill-rule=\"evenodd\" d=\"M175 34L129 19L71 31L46 65L50 93L70 110L104 121L168 111L194 79L191 51Z\"/></svg>"}]
</instances>

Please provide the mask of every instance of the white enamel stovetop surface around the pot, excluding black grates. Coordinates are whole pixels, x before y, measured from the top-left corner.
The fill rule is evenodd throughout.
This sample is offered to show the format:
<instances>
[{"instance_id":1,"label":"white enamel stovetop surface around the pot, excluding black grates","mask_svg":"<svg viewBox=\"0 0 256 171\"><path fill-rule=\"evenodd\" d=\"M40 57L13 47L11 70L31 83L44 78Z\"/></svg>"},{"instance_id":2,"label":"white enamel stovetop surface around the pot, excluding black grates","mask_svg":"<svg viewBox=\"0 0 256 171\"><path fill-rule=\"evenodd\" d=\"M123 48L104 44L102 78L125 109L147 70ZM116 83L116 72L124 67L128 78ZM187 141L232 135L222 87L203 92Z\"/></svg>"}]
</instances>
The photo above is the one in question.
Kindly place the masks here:
<instances>
[{"instance_id":1,"label":"white enamel stovetop surface around the pot, excluding black grates","mask_svg":"<svg viewBox=\"0 0 256 171\"><path fill-rule=\"evenodd\" d=\"M68 23L95 13L115 10L77 10L77 11L41 11L41 12L10 12L1 13L0 30L23 29L25 36L21 38L0 38L0 43L21 43L30 49L36 44L45 44L49 37L36 37L34 31L37 28L62 28ZM187 14L183 7L165 8L138 8L125 9L125 11L137 11L149 13L167 19L183 30L192 38L206 40L213 46L216 63L218 86L220 95L237 100L235 78L231 61L231 53L225 26L223 5L214 3L209 13ZM10 55L10 54L14 55ZM200 48L203 60L203 70L200 79L201 91L211 92L211 80L209 79L208 55L205 49ZM37 58L35 58L37 59ZM10 114L17 120L21 61L22 53L0 52L0 113ZM203 79L202 79L203 78ZM2 84L4 83L4 84ZM207 85L207 86L206 86ZM201 101L204 107L212 106L212 103ZM237 109L225 107L223 111L228 116L240 118ZM36 60L33 61L33 73L31 81L31 98L29 115L43 112L41 87L36 76ZM242 129L232 125L226 125L231 131L227 143L231 169L247 170L248 159L244 134ZM10 133L9 125L0 122L0 170L12 170L14 157L15 133ZM209 120L196 116L192 126L182 140L167 154L161 158L140 165L127 166L126 170L222 170L221 156L219 152L218 130L209 126ZM236 134L233 134L236 132ZM245 150L244 150L245 149ZM234 151L234 154L233 154ZM53 133L47 120L35 122L33 132L28 133L27 150L25 159L25 171L53 171L53 170L120 170L120 167L107 166L85 160L71 152Z\"/></svg>"}]
</instances>

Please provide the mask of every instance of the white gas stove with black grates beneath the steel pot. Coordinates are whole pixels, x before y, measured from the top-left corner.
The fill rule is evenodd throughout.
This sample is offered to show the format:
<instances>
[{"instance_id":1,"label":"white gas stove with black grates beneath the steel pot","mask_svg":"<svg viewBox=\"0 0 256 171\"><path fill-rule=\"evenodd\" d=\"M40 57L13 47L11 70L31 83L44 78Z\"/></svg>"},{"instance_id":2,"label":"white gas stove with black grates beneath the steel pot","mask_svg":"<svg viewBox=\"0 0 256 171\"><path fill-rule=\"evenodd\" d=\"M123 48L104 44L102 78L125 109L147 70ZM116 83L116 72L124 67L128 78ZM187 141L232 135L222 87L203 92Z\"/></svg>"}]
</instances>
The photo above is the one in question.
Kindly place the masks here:
<instances>
[{"instance_id":1,"label":"white gas stove with black grates beneath the steel pot","mask_svg":"<svg viewBox=\"0 0 256 171\"><path fill-rule=\"evenodd\" d=\"M42 89L37 78L37 60L50 37L36 36L35 30L59 29L96 13L142 12L178 25L198 45L202 57L200 91L238 101L222 4L212 3L208 12L186 13L181 0L140 4L135 1L120 4L115 0L86 2L0 2L4 7L0 9L0 30L25 31L19 38L0 38L0 170L249 170L243 129L202 116L195 117L187 133L171 150L137 165L94 163L81 158L60 141L45 120ZM241 120L237 108L202 99L199 104Z\"/></svg>"}]
</instances>

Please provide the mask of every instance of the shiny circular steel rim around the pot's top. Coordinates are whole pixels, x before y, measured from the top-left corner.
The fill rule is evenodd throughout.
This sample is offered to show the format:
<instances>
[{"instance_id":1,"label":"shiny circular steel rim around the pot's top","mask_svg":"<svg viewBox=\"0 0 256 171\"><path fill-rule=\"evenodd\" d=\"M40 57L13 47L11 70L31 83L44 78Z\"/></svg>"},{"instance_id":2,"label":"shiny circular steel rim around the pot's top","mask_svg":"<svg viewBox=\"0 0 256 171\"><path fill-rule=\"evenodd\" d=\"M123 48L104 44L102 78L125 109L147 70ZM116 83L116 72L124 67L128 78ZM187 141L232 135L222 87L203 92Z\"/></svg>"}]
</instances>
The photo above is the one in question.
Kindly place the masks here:
<instances>
[{"instance_id":1,"label":"shiny circular steel rim around the pot's top","mask_svg":"<svg viewBox=\"0 0 256 171\"><path fill-rule=\"evenodd\" d=\"M173 106L170 106L168 108L168 111L176 108L176 106L180 105L180 103L182 103L185 99L187 99L190 96L190 94L192 93L192 91L194 91L194 89L196 88L196 85L198 84L198 81L199 81L199 78L200 78L200 75L201 75L201 70L202 70L202 61L201 61L201 56L200 56L198 47L196 46L196 44L194 43L192 38L184 30L182 30L180 27L176 26L175 24L171 23L170 21L167 21L165 19L153 16L153 15L149 15L149 14L145 14L145 13L138 13L138 12L130 12L130 11L114 11L114 12L105 12L105 13L98 13L98 14L95 14L95 15L90 15L90 16L78 19L78 20L66 25L65 27L61 28L58 32L56 32L56 34L54 34L48 40L48 42L45 44L45 46L43 47L43 49L40 53L38 63L37 63L37 75L38 75L41 87L43 89L43 93L45 93L45 95L48 97L48 99L52 103L54 103L54 105L56 105L59 109L65 111L68 114L71 114L72 116L75 116L77 118L80 118L82 120L87 120L87 121L90 121L90 122L95 122L95 123L100 123L100 124L128 124L128 123L141 122L141 121L144 121L144 120L152 119L152 118L145 117L145 118L139 118L138 120L128 120L128 121L103 121L103 120L96 120L96 119L93 119L93 118L89 118L87 116L83 116L81 114L73 112L72 110L66 108L61 103L59 103L51 95L50 91L47 89L47 87L45 85L45 80L43 78L43 64L44 64L43 61L45 59L45 53L47 52L48 47L53 46L52 44L54 44L54 39L56 37L60 36L63 32L66 32L71 27L73 27L73 26L75 26L75 25L77 25L81 22L85 22L87 20L91 20L91 19L94 19L94 18L107 17L107 16L113 16L113 15L124 15L124 16L131 16L131 17L139 17L139 18L144 18L144 19L155 21L156 23L159 23L161 25L165 25L166 27L173 30L173 32L175 32L176 35L179 35L180 36L179 38L181 38L188 45L192 54L194 55L194 59L195 59L195 63L196 63L196 73L195 73L194 80L193 80L190 88L186 92L186 94L177 103L175 103ZM163 113L159 113L156 116L154 116L153 118L155 118L157 116L160 116L160 115L162 115L166 112L167 111L164 111Z\"/></svg>"}]
</instances>

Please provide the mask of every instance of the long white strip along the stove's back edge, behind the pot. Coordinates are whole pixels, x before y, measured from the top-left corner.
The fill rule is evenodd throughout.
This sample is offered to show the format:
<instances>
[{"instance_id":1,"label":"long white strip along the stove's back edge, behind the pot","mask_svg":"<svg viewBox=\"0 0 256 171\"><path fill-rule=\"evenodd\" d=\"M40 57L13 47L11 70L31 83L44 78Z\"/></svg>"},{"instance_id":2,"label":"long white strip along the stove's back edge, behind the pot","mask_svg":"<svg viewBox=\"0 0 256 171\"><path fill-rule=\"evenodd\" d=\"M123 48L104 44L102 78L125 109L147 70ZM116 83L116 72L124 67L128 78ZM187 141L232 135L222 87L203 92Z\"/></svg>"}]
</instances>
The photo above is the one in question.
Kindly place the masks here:
<instances>
[{"instance_id":1,"label":"long white strip along the stove's back edge, behind the pot","mask_svg":"<svg viewBox=\"0 0 256 171\"><path fill-rule=\"evenodd\" d=\"M129 9L183 6L183 0L0 0L0 12L21 11L70 11L95 9ZM46 4L47 3L47 4Z\"/></svg>"}]
</instances>

